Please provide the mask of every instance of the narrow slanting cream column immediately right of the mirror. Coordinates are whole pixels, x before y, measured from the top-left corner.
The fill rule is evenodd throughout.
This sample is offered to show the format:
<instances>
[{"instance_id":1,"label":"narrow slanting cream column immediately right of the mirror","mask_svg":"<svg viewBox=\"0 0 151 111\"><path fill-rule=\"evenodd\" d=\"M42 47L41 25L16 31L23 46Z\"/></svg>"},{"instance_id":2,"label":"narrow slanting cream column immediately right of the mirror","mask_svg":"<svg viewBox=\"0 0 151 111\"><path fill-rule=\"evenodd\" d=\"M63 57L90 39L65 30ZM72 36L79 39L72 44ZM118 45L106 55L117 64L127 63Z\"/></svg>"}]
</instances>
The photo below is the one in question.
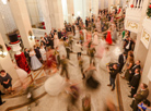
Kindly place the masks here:
<instances>
[{"instance_id":1,"label":"narrow slanting cream column immediately right of the mirror","mask_svg":"<svg viewBox=\"0 0 151 111\"><path fill-rule=\"evenodd\" d=\"M49 34L51 30L51 24L50 24L50 13L48 8L48 2L47 0L38 0L38 2L43 12L46 32Z\"/></svg>"}]
</instances>

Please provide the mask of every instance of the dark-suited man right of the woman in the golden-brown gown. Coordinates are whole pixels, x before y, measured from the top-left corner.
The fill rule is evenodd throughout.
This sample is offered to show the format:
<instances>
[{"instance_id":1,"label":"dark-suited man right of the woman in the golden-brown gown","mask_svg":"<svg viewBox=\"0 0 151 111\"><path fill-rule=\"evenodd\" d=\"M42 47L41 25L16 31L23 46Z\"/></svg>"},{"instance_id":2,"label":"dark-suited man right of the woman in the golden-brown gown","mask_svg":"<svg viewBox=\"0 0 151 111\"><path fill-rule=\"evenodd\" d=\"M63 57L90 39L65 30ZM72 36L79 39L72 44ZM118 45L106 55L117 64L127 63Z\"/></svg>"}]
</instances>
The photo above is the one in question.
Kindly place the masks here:
<instances>
[{"instance_id":1,"label":"dark-suited man right of the woman in the golden-brown gown","mask_svg":"<svg viewBox=\"0 0 151 111\"><path fill-rule=\"evenodd\" d=\"M136 64L132 66L132 69L129 71L129 83L131 82L132 76L135 75L136 69L141 69L140 61L137 60Z\"/></svg>"}]
</instances>

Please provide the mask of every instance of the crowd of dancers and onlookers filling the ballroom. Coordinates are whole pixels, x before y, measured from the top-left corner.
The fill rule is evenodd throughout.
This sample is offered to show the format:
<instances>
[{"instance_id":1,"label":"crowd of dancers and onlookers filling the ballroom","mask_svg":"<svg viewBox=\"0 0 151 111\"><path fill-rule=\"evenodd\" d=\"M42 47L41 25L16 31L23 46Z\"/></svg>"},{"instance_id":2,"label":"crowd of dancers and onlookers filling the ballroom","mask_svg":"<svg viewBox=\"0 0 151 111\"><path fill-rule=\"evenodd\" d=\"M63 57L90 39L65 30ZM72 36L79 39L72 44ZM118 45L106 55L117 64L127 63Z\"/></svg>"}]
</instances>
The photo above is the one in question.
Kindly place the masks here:
<instances>
[{"instance_id":1,"label":"crowd of dancers and onlookers filling the ballroom","mask_svg":"<svg viewBox=\"0 0 151 111\"><path fill-rule=\"evenodd\" d=\"M95 73L98 70L96 58L98 58L103 61L104 67L107 69L109 73L109 84L107 86L112 86L112 91L115 89L115 79L119 73L124 79L128 81L128 85L131 88L130 96L128 97L135 98L130 107L133 111L138 111L138 109L140 111L146 111L143 110L143 104L147 104L146 102L149 89L148 86L142 83L140 85L141 89L138 91L141 77L141 62L137 60L135 63L135 39L130 38L130 32L124 29L123 38L119 38L117 35L117 30L123 30L123 22L125 17L123 13L119 18L118 14L120 13L121 9L115 10L112 13L107 10L101 10L98 16L92 15L86 17L85 22L83 22L79 16L73 24L65 22L65 29L57 30L53 28L48 35L45 34L44 37L40 37L39 41L36 40L36 45L33 46L33 48L24 49L25 58L33 71L36 71L44 65L49 71L48 74L57 73L53 76L54 78L51 77L45 83L45 89L48 94L54 96L59 94L61 91L60 89L62 89L62 84L61 88L54 88L55 86L51 85L54 79L58 79L59 83L62 81L62 83L66 84L63 85L63 88L67 94L71 96L71 102L69 103L68 111L73 111L72 107L79 109L77 102L80 96L78 85L69 85L70 74L68 66L71 64L69 62L69 60L71 60L71 53L77 53L82 81L88 89L95 90L101 86L100 81L95 76ZM123 41L124 52L119 55L118 63L111 63L111 59L108 59L109 47L116 45L117 39ZM85 54L90 57L89 67L83 65L84 61L82 54L85 50ZM58 74L59 71L60 74ZM11 76L5 73L4 70L0 73L1 85L8 89L9 92L13 91L11 88ZM63 77L66 81L62 78L63 75L66 76ZM56 84L59 83L56 82ZM47 86L49 89L54 88L54 90L47 89ZM1 94L2 92L0 92L0 95ZM85 96L82 99L82 106L83 111L91 111L90 96ZM109 106L112 106L112 109ZM107 107L106 111L115 111L116 109L116 107L111 102ZM148 107L146 109L148 109Z\"/></svg>"}]
</instances>

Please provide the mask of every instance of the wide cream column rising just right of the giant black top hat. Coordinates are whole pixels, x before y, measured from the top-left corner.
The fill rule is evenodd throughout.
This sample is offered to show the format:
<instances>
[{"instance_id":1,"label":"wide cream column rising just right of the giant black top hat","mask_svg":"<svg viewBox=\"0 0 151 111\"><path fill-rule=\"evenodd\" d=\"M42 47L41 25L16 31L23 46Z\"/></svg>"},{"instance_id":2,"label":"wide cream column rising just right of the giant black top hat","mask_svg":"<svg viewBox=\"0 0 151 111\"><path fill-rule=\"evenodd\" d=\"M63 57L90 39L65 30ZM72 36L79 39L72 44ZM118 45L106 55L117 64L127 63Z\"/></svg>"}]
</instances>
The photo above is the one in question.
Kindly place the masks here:
<instances>
[{"instance_id":1,"label":"wide cream column rising just right of the giant black top hat","mask_svg":"<svg viewBox=\"0 0 151 111\"><path fill-rule=\"evenodd\" d=\"M25 48L32 48L35 45L35 40L28 38L28 32L32 30L30 16L26 9L25 0L10 0L10 8L20 30L21 38Z\"/></svg>"}]
</instances>

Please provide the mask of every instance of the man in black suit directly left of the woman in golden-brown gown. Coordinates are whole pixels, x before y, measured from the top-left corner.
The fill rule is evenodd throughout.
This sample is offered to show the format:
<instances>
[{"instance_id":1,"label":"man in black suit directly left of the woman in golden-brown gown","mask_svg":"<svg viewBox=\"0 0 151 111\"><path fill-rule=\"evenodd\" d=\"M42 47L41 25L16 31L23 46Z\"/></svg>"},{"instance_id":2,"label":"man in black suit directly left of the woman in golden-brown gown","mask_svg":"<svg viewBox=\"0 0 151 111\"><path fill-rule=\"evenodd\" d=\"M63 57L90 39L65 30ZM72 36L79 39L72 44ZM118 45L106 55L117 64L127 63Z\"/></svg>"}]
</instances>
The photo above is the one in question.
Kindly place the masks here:
<instances>
[{"instance_id":1,"label":"man in black suit directly left of the woman in golden-brown gown","mask_svg":"<svg viewBox=\"0 0 151 111\"><path fill-rule=\"evenodd\" d=\"M124 67L124 64L126 63L126 59L127 59L127 53L124 52L119 55L118 58L118 63L119 63L119 73L121 73L121 70Z\"/></svg>"}]
</instances>

